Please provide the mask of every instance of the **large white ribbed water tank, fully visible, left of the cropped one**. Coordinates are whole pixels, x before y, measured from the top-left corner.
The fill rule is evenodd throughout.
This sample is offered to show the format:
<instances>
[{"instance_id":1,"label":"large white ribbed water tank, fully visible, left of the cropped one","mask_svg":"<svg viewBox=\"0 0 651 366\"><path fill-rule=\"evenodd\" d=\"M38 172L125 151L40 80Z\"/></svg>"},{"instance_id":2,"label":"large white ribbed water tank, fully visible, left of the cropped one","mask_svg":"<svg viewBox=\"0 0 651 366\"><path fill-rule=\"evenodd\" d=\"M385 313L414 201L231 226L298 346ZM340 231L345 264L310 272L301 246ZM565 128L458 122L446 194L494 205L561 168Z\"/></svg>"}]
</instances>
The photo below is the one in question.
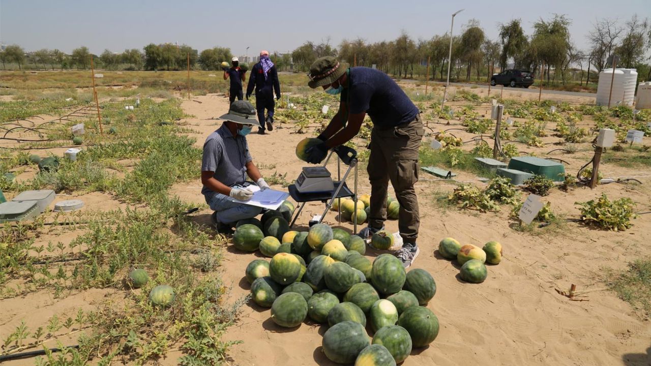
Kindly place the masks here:
<instances>
[{"instance_id":1,"label":"large white ribbed water tank, fully visible, left of the cropped one","mask_svg":"<svg viewBox=\"0 0 651 366\"><path fill-rule=\"evenodd\" d=\"M599 73L597 106L608 105L608 98L611 95L611 80L613 80L611 107L617 106L617 102L620 102L620 105L633 106L635 84L637 84L637 71L634 68L616 68L615 79L613 79L612 68L606 68Z\"/></svg>"}]
</instances>

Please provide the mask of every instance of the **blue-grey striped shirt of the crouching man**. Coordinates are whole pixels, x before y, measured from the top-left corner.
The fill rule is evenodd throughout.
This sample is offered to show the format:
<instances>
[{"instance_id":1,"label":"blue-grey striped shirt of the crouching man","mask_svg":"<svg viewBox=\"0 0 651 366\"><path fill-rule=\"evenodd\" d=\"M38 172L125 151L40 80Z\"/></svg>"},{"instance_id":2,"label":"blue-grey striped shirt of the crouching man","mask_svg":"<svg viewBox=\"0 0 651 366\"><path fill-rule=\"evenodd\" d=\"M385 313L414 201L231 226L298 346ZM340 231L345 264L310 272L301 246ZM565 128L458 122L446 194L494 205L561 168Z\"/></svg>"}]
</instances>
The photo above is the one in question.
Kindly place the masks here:
<instances>
[{"instance_id":1,"label":"blue-grey striped shirt of the crouching man","mask_svg":"<svg viewBox=\"0 0 651 366\"><path fill-rule=\"evenodd\" d=\"M214 172L215 179L232 187L244 184L247 177L246 163L251 160L246 137L233 136L226 124L223 124L204 143L201 171ZM206 202L210 202L217 194L206 186L203 186L201 193L206 197Z\"/></svg>"}]
</instances>

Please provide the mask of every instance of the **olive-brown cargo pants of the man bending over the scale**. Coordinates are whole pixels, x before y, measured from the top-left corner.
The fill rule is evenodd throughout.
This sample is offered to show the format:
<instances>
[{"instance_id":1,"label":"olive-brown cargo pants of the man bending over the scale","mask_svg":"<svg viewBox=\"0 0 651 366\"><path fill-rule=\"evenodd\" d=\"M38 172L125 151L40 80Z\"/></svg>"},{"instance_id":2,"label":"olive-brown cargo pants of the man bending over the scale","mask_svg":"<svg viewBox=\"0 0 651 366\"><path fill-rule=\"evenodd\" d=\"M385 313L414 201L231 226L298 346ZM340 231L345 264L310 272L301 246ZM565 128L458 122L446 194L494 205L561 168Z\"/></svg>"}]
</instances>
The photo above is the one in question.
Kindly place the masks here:
<instances>
[{"instance_id":1,"label":"olive-brown cargo pants of the man bending over the scale","mask_svg":"<svg viewBox=\"0 0 651 366\"><path fill-rule=\"evenodd\" d=\"M380 228L387 219L389 181L400 203L398 229L405 242L418 238L420 217L413 185L418 181L418 150L422 136L421 116L391 128L374 127L370 137L368 179L370 180L370 215L368 225Z\"/></svg>"}]
</instances>

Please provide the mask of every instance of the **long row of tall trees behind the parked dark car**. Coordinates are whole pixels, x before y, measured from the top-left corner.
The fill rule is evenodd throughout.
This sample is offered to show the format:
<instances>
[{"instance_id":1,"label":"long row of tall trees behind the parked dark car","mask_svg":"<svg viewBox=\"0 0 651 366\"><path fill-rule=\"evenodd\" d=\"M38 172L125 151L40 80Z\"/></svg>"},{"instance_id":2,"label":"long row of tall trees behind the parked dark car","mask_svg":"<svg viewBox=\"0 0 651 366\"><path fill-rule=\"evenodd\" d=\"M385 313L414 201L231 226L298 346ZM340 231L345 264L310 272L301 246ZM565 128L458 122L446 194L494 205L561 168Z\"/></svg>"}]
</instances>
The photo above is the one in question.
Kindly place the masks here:
<instances>
[{"instance_id":1,"label":"long row of tall trees behind the parked dark car","mask_svg":"<svg viewBox=\"0 0 651 366\"><path fill-rule=\"evenodd\" d=\"M343 40L339 48L305 42L292 51L296 70L307 71L309 65L324 55L338 56L357 66L372 66L398 77L422 76L430 60L430 76L443 79L450 63L450 77L457 80L486 78L495 70L504 70L511 64L519 70L540 76L544 66L547 81L566 78L572 68L578 68L580 83L589 82L590 70L600 72L609 68L609 55L620 57L616 67L637 68L641 79L651 79L651 25L649 20L634 15L628 21L602 19L593 24L588 35L589 48L575 46L569 27L572 21L555 14L550 19L540 18L533 25L533 33L526 35L521 20L500 23L499 36L490 40L477 20L462 27L460 35L452 37L452 57L448 59L450 35L435 35L430 39L413 40L406 32L391 41L368 43L363 38ZM585 70L585 72L584 72Z\"/></svg>"}]
</instances>

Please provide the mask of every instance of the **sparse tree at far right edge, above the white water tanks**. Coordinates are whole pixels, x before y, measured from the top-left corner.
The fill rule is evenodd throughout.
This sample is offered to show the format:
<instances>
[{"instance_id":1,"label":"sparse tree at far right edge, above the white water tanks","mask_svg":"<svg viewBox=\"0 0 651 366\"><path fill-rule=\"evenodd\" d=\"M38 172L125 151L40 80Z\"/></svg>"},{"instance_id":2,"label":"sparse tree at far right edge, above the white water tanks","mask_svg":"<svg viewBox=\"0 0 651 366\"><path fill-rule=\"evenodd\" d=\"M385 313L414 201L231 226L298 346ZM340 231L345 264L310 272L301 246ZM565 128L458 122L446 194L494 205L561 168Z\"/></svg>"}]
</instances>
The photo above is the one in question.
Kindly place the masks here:
<instances>
[{"instance_id":1,"label":"sparse tree at far right edge, above the white water tanks","mask_svg":"<svg viewBox=\"0 0 651 366\"><path fill-rule=\"evenodd\" d=\"M649 21L647 19L639 20L637 14L626 22L626 34L615 49L616 55L620 57L622 67L633 68L644 60L644 53L648 51L646 44L650 28Z\"/></svg>"}]
</instances>

